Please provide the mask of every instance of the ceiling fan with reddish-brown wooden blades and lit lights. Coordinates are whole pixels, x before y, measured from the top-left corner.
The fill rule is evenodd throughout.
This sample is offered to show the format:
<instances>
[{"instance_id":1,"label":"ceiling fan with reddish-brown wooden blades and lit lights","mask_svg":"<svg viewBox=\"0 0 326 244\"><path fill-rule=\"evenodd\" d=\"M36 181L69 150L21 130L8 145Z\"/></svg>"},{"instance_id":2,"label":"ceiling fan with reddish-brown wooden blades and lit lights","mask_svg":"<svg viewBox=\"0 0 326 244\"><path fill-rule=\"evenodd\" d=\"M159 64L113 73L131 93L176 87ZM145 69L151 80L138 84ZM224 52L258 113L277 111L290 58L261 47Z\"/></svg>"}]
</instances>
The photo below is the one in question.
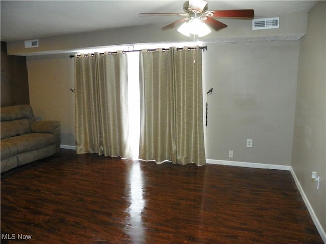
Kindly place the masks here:
<instances>
[{"instance_id":1,"label":"ceiling fan with reddish-brown wooden blades and lit lights","mask_svg":"<svg viewBox=\"0 0 326 244\"><path fill-rule=\"evenodd\" d=\"M140 13L141 16L164 16L164 15L176 15L176 16L183 16L183 18L174 21L173 23L165 26L162 30L171 29L183 24L183 28L187 24L195 22L193 24L197 25L199 29L207 28L206 31L210 32L210 29L207 27L210 26L211 28L218 31L219 29L223 29L227 27L226 24L214 19L214 18L236 18L236 19L252 19L254 18L254 10L253 9L234 9L234 10L208 10L208 4L205 0L189 0L185 1L183 4L183 10L185 13ZM205 23L206 26L200 25ZM182 26L178 29L179 32L182 33ZM186 34L188 35L189 32L193 33L192 31L194 26L186 26ZM191 28L191 29L190 29ZM202 29L203 31L203 29ZM208 32L208 33L209 33ZM207 34L208 34L207 33ZM183 33L184 34L184 33ZM193 33L195 34L195 33ZM207 35L205 34L205 35ZM199 36L204 36L199 35Z\"/></svg>"}]
</instances>

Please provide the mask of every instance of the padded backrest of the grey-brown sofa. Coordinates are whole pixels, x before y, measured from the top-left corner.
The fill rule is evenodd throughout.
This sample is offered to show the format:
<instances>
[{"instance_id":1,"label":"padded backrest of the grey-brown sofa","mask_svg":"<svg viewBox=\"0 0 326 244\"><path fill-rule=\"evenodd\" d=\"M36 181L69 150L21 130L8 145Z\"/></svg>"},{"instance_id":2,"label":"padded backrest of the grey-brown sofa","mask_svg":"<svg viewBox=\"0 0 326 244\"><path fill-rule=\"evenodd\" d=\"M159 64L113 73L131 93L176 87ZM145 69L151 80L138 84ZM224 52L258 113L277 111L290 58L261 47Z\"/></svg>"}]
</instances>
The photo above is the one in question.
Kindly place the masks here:
<instances>
[{"instance_id":1,"label":"padded backrest of the grey-brown sofa","mask_svg":"<svg viewBox=\"0 0 326 244\"><path fill-rule=\"evenodd\" d=\"M35 121L30 105L15 105L0 108L1 139L31 132L30 123Z\"/></svg>"}]
</instances>

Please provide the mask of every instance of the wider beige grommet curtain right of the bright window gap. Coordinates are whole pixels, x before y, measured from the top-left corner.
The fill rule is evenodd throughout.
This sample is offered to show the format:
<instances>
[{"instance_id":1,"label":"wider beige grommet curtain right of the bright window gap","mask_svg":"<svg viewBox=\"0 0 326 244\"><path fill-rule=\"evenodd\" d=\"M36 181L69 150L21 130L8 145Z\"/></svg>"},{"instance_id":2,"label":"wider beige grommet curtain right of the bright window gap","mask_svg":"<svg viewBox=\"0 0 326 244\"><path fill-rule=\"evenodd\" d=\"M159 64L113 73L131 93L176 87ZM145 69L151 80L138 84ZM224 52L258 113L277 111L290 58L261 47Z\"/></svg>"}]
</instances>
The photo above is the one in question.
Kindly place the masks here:
<instances>
[{"instance_id":1,"label":"wider beige grommet curtain right of the bright window gap","mask_svg":"<svg viewBox=\"0 0 326 244\"><path fill-rule=\"evenodd\" d=\"M205 164L202 96L199 48L143 50L139 158Z\"/></svg>"}]
</instances>

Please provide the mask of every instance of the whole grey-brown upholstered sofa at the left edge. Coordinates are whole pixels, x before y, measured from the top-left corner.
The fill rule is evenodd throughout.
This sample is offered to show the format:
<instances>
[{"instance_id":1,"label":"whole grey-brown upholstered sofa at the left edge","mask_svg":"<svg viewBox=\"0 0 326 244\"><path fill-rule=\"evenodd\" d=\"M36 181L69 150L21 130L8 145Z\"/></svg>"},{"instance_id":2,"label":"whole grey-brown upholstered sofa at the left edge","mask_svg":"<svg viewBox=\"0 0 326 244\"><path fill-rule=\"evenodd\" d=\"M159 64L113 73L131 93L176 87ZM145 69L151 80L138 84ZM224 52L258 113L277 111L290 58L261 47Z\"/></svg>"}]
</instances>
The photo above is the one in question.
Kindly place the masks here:
<instances>
[{"instance_id":1,"label":"whole grey-brown upholstered sofa at the left edge","mask_svg":"<svg viewBox=\"0 0 326 244\"><path fill-rule=\"evenodd\" d=\"M30 105L1 107L1 173L59 151L59 121L36 121Z\"/></svg>"}]
</instances>

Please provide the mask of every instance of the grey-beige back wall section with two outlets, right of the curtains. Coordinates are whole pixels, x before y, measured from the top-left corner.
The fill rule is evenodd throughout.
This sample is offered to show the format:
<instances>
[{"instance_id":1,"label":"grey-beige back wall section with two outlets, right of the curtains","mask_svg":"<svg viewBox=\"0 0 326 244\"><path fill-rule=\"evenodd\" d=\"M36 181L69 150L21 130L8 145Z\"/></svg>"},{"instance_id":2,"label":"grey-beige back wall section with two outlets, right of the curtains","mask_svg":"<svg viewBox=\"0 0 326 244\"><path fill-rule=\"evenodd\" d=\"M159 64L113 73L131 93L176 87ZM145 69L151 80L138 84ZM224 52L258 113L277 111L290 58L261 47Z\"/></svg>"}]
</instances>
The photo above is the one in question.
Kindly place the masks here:
<instances>
[{"instance_id":1,"label":"grey-beige back wall section with two outlets, right of the curtains","mask_svg":"<svg viewBox=\"0 0 326 244\"><path fill-rule=\"evenodd\" d=\"M204 90L214 90L208 96L206 158L291 164L297 63L298 41L208 46ZM246 139L253 139L252 148Z\"/></svg>"}]
</instances>

